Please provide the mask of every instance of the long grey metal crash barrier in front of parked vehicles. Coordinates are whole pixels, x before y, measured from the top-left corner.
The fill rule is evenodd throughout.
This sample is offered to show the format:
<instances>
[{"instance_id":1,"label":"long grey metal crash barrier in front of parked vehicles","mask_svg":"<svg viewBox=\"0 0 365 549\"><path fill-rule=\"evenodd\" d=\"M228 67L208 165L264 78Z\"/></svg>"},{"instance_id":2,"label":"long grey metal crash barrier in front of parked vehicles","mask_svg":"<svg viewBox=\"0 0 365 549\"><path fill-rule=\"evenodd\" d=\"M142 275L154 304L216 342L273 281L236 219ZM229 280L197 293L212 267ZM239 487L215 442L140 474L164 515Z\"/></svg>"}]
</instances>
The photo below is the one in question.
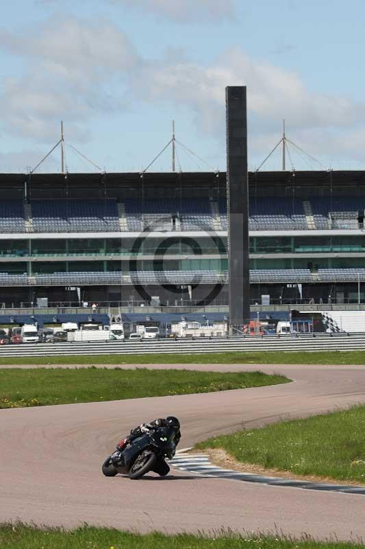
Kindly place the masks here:
<instances>
[{"instance_id":1,"label":"long grey metal crash barrier in front of parked vehicles","mask_svg":"<svg viewBox=\"0 0 365 549\"><path fill-rule=\"evenodd\" d=\"M313 336L250 336L246 338L197 338L194 340L96 341L23 343L0 347L0 358L72 355L136 355L146 353L218 353L229 351L350 351L365 350L365 334ZM365 358L365 355L364 355Z\"/></svg>"}]
</instances>

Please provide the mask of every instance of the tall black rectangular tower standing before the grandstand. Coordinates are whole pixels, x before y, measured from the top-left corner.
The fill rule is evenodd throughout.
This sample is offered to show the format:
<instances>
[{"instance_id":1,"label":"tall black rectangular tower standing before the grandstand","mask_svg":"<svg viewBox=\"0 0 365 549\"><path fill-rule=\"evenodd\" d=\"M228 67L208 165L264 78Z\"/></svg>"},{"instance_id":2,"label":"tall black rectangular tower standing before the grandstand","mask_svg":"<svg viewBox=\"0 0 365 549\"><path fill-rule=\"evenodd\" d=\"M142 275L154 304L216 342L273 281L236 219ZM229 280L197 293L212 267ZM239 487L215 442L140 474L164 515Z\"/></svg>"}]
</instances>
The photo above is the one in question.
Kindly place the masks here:
<instances>
[{"instance_id":1,"label":"tall black rectangular tower standing before the grandstand","mask_svg":"<svg viewBox=\"0 0 365 549\"><path fill-rule=\"evenodd\" d=\"M247 323L250 317L246 86L227 86L225 92L229 321L238 326Z\"/></svg>"}]
</instances>

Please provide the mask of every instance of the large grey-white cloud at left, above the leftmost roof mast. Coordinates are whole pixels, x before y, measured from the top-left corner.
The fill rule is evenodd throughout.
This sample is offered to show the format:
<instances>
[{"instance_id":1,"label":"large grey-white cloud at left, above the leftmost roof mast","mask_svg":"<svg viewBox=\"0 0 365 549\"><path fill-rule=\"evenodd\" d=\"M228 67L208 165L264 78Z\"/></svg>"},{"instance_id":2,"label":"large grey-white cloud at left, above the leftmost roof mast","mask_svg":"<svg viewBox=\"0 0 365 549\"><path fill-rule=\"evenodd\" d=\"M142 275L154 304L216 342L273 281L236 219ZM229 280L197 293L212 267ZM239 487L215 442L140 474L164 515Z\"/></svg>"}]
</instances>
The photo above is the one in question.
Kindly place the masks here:
<instances>
[{"instance_id":1,"label":"large grey-white cloud at left, above the leftmost roof mast","mask_svg":"<svg viewBox=\"0 0 365 549\"><path fill-rule=\"evenodd\" d=\"M5 78L0 113L6 130L23 137L51 139L55 122L68 125L77 140L86 138L88 120L100 112L119 110L127 72L139 62L136 50L108 21L92 23L55 17L27 40L0 29L0 45L27 60L21 78ZM108 87L117 78L119 97Z\"/></svg>"}]
</instances>

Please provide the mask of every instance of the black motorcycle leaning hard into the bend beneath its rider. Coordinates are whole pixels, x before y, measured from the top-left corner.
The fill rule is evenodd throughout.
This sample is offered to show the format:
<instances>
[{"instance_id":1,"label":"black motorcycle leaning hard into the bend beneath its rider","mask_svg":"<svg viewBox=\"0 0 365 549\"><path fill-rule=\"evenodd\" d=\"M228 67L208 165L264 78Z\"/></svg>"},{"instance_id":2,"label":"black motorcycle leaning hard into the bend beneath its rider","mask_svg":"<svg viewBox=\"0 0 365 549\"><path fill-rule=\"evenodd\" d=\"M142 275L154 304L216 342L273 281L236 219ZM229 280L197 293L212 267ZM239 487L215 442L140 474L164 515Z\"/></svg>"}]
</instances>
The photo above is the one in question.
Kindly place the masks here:
<instances>
[{"instance_id":1,"label":"black motorcycle leaning hard into the bend beneath its rider","mask_svg":"<svg viewBox=\"0 0 365 549\"><path fill-rule=\"evenodd\" d=\"M163 427L134 439L122 450L105 459L101 469L105 476L121 473L131 479L141 478L149 471L165 476L170 471L165 458L175 455L175 430Z\"/></svg>"}]
</instances>

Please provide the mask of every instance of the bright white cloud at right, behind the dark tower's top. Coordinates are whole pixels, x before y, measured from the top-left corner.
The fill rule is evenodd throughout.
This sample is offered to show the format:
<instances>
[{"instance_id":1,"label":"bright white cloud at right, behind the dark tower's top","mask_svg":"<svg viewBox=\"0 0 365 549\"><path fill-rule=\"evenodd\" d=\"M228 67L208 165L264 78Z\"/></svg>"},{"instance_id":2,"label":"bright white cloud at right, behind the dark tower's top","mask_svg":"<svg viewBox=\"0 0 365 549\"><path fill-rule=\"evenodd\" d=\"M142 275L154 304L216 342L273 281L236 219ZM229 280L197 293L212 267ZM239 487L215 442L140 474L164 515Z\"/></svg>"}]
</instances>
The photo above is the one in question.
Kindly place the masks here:
<instances>
[{"instance_id":1,"label":"bright white cloud at right, behind the dark tower's top","mask_svg":"<svg viewBox=\"0 0 365 549\"><path fill-rule=\"evenodd\" d=\"M225 51L209 67L192 62L144 62L142 71L142 78L149 82L139 89L142 98L188 105L206 130L213 130L225 115L227 84L247 85L251 117L262 128L270 128L283 117L292 128L344 128L365 120L365 103L310 93L295 73L253 60L238 50ZM134 87L138 89L137 82Z\"/></svg>"}]
</instances>

